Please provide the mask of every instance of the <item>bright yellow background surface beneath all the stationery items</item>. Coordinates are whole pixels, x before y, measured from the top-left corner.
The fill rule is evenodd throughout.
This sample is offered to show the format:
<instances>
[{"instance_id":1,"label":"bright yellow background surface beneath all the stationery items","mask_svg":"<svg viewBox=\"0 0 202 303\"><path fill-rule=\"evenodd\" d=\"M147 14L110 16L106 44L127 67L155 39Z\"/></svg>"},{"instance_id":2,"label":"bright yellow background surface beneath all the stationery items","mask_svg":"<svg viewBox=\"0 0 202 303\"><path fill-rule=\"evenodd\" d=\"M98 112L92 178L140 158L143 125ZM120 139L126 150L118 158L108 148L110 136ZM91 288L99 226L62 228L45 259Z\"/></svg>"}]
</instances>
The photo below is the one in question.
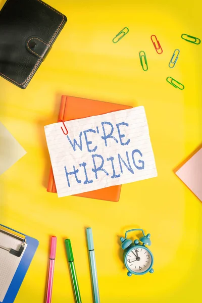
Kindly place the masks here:
<instances>
[{"instance_id":1,"label":"bright yellow background surface beneath all the stationery items","mask_svg":"<svg viewBox=\"0 0 202 303\"><path fill-rule=\"evenodd\" d=\"M83 302L92 302L85 227L92 227L102 302L190 302L201 293L201 203L174 168L200 143L201 2L70 0L47 3L68 22L22 90L0 79L1 122L27 154L1 176L0 222L40 242L15 303L44 301L48 242L58 237L53 303L74 302L64 238L72 241ZM4 1L0 1L3 6ZM113 37L127 26L117 44ZM158 55L150 36L163 48ZM168 63L180 49L176 67ZM148 71L139 63L147 56ZM175 89L172 76L185 85ZM158 177L122 186L118 203L47 193L49 156L43 126L56 122L62 94L145 107ZM127 277L119 237L151 234L154 274ZM131 235L133 238L135 234Z\"/></svg>"}]
</instances>

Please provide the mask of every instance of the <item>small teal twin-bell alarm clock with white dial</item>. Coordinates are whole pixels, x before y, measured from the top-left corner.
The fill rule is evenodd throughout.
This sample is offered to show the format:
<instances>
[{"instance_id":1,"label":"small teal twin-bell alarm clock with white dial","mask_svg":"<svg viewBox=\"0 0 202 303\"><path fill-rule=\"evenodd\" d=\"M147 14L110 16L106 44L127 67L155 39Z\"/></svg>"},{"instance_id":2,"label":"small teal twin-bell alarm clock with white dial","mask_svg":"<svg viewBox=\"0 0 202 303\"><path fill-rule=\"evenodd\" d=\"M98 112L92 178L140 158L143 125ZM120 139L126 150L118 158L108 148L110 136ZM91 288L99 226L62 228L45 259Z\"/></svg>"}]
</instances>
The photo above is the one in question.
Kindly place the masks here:
<instances>
[{"instance_id":1,"label":"small teal twin-bell alarm clock with white dial","mask_svg":"<svg viewBox=\"0 0 202 303\"><path fill-rule=\"evenodd\" d=\"M139 240L127 239L127 233L140 230L143 234ZM121 237L121 248L124 249L123 261L128 270L129 277L133 275L144 275L154 273L154 257L146 245L151 245L150 234L145 235L143 229L130 229L125 233L125 238Z\"/></svg>"}]
</instances>

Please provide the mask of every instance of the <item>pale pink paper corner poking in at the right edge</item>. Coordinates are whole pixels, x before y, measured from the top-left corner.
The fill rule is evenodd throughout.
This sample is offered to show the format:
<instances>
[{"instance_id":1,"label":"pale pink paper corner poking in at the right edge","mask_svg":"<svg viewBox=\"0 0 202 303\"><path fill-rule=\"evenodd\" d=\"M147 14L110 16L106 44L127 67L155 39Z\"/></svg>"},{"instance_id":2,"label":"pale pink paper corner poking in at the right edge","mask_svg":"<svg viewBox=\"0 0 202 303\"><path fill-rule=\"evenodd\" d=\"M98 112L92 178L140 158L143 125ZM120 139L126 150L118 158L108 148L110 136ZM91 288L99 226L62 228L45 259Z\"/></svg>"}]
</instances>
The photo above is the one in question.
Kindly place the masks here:
<instances>
[{"instance_id":1,"label":"pale pink paper corner poking in at the right edge","mask_svg":"<svg viewBox=\"0 0 202 303\"><path fill-rule=\"evenodd\" d=\"M176 175L202 201L202 148L176 172Z\"/></svg>"}]
</instances>

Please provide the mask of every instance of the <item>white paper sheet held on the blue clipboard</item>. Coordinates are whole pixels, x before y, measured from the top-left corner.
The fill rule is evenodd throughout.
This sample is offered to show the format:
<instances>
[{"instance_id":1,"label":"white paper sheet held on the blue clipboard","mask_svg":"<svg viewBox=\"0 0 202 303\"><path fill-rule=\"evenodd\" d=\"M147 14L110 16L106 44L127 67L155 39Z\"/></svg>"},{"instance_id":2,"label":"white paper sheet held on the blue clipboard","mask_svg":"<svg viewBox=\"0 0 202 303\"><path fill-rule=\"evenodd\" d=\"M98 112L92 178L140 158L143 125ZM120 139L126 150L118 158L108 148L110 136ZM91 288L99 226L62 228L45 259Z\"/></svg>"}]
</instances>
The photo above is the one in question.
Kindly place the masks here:
<instances>
[{"instance_id":1,"label":"white paper sheet held on the blue clipboard","mask_svg":"<svg viewBox=\"0 0 202 303\"><path fill-rule=\"evenodd\" d=\"M0 232L0 246L19 250L21 245L22 241ZM25 248L20 257L16 257L10 254L9 251L0 248L0 302L4 300L26 247L27 244L25 244Z\"/></svg>"}]
</instances>

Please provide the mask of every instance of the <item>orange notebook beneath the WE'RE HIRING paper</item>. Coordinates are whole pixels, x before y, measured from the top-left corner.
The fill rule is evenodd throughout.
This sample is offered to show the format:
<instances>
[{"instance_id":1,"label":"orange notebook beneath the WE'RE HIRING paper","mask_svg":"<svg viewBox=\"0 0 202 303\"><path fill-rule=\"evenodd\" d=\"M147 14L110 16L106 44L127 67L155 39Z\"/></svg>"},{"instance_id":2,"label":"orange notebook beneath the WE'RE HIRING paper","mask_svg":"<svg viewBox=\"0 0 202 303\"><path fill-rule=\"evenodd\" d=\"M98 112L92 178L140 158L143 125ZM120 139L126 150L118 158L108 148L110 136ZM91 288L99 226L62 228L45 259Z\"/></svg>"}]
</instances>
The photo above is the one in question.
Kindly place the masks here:
<instances>
[{"instance_id":1,"label":"orange notebook beneath the WE'RE HIRING paper","mask_svg":"<svg viewBox=\"0 0 202 303\"><path fill-rule=\"evenodd\" d=\"M86 118L90 116L97 116L130 108L132 107L63 95L58 121L69 121L74 119ZM47 191L57 192L52 168L49 174ZM75 196L118 202L120 193L121 185L116 185L75 194Z\"/></svg>"}]
</instances>

